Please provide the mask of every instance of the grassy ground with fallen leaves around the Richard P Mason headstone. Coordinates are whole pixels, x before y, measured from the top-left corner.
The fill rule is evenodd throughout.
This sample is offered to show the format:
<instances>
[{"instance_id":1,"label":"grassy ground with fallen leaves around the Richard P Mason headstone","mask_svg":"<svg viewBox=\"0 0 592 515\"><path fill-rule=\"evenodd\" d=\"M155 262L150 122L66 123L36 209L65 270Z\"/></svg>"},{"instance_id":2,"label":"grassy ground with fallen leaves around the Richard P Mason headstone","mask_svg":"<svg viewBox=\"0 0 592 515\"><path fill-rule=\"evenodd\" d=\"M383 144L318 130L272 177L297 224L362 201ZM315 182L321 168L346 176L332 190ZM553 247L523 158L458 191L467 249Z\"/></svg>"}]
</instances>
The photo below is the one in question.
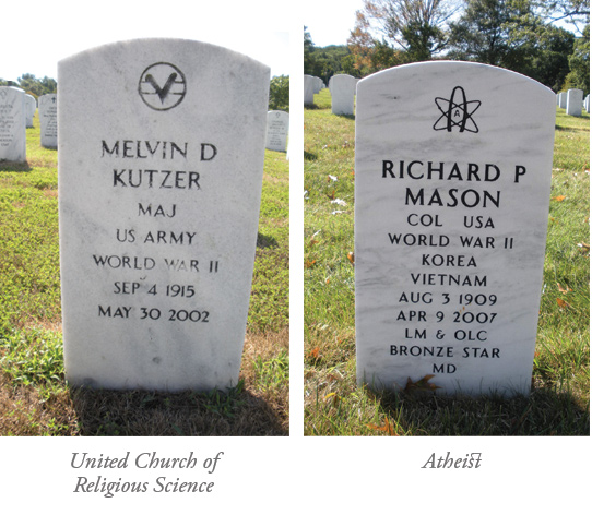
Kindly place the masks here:
<instances>
[{"instance_id":1,"label":"grassy ground with fallen leaves around the Richard P Mason headstone","mask_svg":"<svg viewBox=\"0 0 592 515\"><path fill-rule=\"evenodd\" d=\"M328 89L305 108L305 434L590 434L589 115L557 109L532 391L507 399L356 385L354 125Z\"/></svg>"}]
</instances>

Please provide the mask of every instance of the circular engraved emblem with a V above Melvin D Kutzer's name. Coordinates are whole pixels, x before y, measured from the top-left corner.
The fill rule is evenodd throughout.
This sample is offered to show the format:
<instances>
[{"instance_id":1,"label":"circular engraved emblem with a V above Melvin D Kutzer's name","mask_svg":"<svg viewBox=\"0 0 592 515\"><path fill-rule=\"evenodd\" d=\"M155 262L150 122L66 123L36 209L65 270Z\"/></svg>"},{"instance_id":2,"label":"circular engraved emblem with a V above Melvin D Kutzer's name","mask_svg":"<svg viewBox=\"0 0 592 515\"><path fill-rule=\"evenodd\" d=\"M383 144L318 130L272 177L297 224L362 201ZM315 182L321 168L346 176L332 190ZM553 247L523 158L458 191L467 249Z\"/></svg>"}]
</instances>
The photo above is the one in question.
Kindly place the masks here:
<instances>
[{"instance_id":1,"label":"circular engraved emblem with a V above Melvin D Kutzer's name","mask_svg":"<svg viewBox=\"0 0 592 515\"><path fill-rule=\"evenodd\" d=\"M166 111L182 101L187 93L187 83L177 67L168 62L156 62L142 73L138 93L151 109Z\"/></svg>"}]
</instances>

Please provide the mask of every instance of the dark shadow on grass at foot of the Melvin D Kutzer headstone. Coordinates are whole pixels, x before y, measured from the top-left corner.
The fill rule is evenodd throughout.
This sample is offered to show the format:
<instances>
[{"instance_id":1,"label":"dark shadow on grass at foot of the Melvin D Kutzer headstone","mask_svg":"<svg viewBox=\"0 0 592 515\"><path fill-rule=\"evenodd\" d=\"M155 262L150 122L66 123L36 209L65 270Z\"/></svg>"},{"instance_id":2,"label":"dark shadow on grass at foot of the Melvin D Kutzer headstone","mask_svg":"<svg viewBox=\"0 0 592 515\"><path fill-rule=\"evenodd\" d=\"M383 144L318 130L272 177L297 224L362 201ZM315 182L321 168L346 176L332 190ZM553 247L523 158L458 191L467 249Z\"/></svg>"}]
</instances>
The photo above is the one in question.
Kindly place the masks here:
<instances>
[{"instance_id":1,"label":"dark shadow on grass at foot of the Melvin D Kutzer headstone","mask_svg":"<svg viewBox=\"0 0 592 515\"><path fill-rule=\"evenodd\" d=\"M70 388L83 436L282 436L276 411L242 390L227 394Z\"/></svg>"}]
</instances>

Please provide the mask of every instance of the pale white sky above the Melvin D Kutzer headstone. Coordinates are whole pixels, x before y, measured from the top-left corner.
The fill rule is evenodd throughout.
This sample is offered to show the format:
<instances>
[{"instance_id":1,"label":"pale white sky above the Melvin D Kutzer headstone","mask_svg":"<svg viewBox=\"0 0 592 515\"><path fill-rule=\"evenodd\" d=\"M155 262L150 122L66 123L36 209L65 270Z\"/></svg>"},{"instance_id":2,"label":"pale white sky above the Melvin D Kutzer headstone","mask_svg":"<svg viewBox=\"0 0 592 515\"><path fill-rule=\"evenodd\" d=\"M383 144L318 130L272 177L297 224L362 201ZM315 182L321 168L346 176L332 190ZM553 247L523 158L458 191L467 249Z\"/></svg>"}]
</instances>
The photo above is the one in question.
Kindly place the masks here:
<instances>
[{"instance_id":1,"label":"pale white sky above the Melvin D Kutzer headstone","mask_svg":"<svg viewBox=\"0 0 592 515\"><path fill-rule=\"evenodd\" d=\"M60 59L107 43L179 37L224 46L289 74L287 0L2 1L0 79L57 79ZM286 15L282 13L282 5ZM289 9L288 9L289 7ZM294 25L295 26L295 25ZM301 45L301 36L298 41Z\"/></svg>"}]
</instances>

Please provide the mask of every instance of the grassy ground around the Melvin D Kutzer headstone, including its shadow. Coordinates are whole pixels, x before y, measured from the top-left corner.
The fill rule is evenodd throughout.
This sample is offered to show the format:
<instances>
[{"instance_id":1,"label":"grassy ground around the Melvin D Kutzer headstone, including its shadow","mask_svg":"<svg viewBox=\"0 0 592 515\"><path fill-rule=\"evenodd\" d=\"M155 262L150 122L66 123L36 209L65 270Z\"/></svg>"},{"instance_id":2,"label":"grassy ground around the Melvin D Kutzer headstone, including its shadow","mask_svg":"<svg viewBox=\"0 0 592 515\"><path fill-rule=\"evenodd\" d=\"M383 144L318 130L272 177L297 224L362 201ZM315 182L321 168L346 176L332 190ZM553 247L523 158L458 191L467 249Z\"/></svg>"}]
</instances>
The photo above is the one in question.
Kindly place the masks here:
<instances>
[{"instance_id":1,"label":"grassy ground around the Melvin D Kutzer headstone, including its shadow","mask_svg":"<svg viewBox=\"0 0 592 515\"><path fill-rule=\"evenodd\" d=\"M239 384L228 392L92 391L64 380L57 152L27 129L0 163L0 435L287 435L288 161L265 151Z\"/></svg>"}]
</instances>

